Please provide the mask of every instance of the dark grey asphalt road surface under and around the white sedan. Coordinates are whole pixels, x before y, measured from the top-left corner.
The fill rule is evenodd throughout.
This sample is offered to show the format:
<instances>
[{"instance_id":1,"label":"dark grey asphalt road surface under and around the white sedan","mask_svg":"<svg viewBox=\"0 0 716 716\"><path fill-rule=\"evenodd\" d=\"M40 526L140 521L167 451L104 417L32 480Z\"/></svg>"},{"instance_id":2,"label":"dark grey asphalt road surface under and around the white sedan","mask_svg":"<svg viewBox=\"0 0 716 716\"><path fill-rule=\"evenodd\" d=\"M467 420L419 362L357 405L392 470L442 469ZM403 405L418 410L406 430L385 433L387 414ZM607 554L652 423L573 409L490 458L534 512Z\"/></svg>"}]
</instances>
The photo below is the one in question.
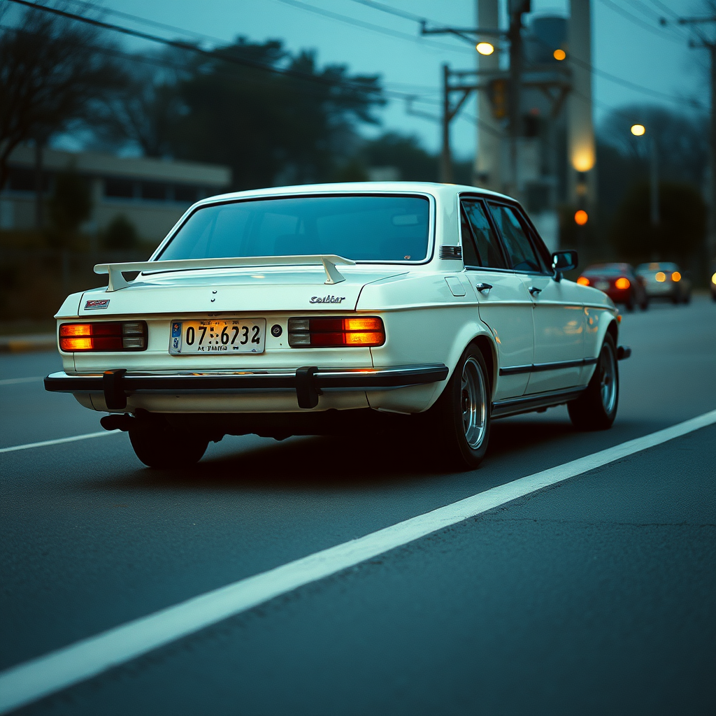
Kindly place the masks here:
<instances>
[{"instance_id":1,"label":"dark grey asphalt road surface under and around the white sedan","mask_svg":"<svg viewBox=\"0 0 716 716\"><path fill-rule=\"evenodd\" d=\"M228 437L193 470L125 434L0 454L0 670L716 408L716 304L627 314L619 415L424 445ZM0 357L0 448L100 430ZM27 381L18 382L19 379ZM33 380L33 378L35 378ZM716 425L470 518L34 702L38 714L716 713Z\"/></svg>"}]
</instances>

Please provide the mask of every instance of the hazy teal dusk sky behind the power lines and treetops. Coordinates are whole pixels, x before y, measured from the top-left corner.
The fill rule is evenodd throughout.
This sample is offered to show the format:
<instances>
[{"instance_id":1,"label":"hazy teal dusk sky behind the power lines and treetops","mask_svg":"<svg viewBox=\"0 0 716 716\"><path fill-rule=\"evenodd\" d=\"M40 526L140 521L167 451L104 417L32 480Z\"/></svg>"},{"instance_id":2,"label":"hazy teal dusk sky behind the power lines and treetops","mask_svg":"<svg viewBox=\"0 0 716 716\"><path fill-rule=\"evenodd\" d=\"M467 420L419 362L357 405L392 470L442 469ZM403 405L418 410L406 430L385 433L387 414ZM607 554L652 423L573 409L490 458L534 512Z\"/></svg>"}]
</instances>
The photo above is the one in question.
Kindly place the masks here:
<instances>
[{"instance_id":1,"label":"hazy teal dusk sky behind the power lines and treetops","mask_svg":"<svg viewBox=\"0 0 716 716\"><path fill-rule=\"evenodd\" d=\"M440 65L474 66L475 51L468 44L450 37L420 38L417 22L404 19L359 0L105 0L110 10L133 14L142 19L170 24L186 32L225 42L242 35L252 41L282 39L291 50L315 49L319 63L344 63L354 73L379 74L384 87L420 97L420 110L440 111ZM387 0L390 6L425 17L436 24L473 26L475 0ZM533 0L533 15L566 14L567 0ZM314 10L312 11L311 8ZM316 12L326 11L334 17ZM708 104L706 55L690 49L690 32L671 24L659 26L659 16L703 14L698 0L593 0L593 63L597 70L612 74L641 87L667 96L650 96L621 86L611 79L594 76L596 120L610 107L633 103L656 103L687 107L685 100ZM503 13L504 14L504 13ZM341 17L337 17L341 16ZM344 19L342 19L344 18ZM163 37L178 32L132 21L108 13L106 19ZM352 24L356 21L358 24ZM360 26L369 24L374 27ZM380 32L380 30L384 32ZM397 34L390 34L391 32ZM140 50L150 43L121 39L127 47ZM156 47L156 46L154 46ZM669 99L669 97L671 99ZM390 100L379 112L382 125L364 127L373 135L398 130L418 135L425 147L437 150L439 125L408 116L405 102ZM468 157L475 148L475 105L468 105L453 123L455 154Z\"/></svg>"}]
</instances>

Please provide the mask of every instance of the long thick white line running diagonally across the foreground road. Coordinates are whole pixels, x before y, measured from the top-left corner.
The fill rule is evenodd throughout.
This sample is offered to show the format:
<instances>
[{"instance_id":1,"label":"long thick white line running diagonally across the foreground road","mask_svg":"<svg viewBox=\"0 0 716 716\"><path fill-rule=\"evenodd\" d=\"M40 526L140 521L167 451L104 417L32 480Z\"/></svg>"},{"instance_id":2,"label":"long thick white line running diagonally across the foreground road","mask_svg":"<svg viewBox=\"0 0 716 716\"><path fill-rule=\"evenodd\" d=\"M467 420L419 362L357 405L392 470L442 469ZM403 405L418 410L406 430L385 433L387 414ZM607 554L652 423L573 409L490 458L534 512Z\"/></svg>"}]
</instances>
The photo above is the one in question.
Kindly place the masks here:
<instances>
[{"instance_id":1,"label":"long thick white line running diagonally across the foreground road","mask_svg":"<svg viewBox=\"0 0 716 716\"><path fill-rule=\"evenodd\" d=\"M549 485L716 423L716 410L528 475L364 537L195 596L0 673L0 714L101 674L269 599L355 566Z\"/></svg>"}]
</instances>

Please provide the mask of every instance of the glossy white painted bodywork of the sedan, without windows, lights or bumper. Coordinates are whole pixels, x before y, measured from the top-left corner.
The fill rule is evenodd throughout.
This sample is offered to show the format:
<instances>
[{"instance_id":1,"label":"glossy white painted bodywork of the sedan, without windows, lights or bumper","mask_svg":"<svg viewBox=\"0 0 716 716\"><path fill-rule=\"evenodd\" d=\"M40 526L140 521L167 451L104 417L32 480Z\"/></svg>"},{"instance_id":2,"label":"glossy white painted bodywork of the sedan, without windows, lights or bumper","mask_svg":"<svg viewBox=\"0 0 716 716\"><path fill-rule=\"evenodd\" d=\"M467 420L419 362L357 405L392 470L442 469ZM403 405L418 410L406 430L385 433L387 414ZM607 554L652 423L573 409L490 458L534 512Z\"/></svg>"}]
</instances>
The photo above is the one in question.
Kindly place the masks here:
<instances>
[{"instance_id":1,"label":"glossy white painted bodywork of the sedan, without windows, lights or bumper","mask_svg":"<svg viewBox=\"0 0 716 716\"><path fill-rule=\"evenodd\" d=\"M138 352L62 353L67 374L81 377L110 369L127 372L253 372L319 368L384 369L444 364L448 377L465 347L483 341L493 364L493 401L516 399L548 391L584 387L594 364L532 372L534 364L580 362L599 354L610 324L616 329L616 309L605 294L546 274L493 269L465 269L461 260L441 258L442 246L460 246L460 192L491 195L475 188L431 183L356 183L271 188L206 199L201 205L311 194L415 194L430 198L430 236L425 261L358 263L338 266L344 281L326 285L320 266L251 266L145 273L127 288L105 288L72 294L57 314L57 322L72 319L145 320L147 349ZM184 218L178 223L181 226ZM153 258L160 256L173 229ZM350 258L350 257L347 257ZM161 269L161 261L157 261ZM488 283L490 291L477 290ZM541 292L531 296L528 289ZM326 298L327 301L316 301ZM105 309L85 309L87 301L109 299ZM335 300L334 300L335 299ZM289 347L288 321L296 316L380 316L386 340L382 346ZM174 320L265 318L265 351L261 354L188 354L168 352ZM274 337L269 326L281 326ZM501 371L507 369L505 374ZM520 369L521 372L510 372ZM445 379L392 390L325 390L314 411L372 408L415 413L431 407ZM51 390L51 389L48 389ZM59 390L59 389L54 389ZM72 390L77 400L94 410L108 411L102 392ZM135 392L127 407L115 412L306 412L296 393L226 391Z\"/></svg>"}]
</instances>

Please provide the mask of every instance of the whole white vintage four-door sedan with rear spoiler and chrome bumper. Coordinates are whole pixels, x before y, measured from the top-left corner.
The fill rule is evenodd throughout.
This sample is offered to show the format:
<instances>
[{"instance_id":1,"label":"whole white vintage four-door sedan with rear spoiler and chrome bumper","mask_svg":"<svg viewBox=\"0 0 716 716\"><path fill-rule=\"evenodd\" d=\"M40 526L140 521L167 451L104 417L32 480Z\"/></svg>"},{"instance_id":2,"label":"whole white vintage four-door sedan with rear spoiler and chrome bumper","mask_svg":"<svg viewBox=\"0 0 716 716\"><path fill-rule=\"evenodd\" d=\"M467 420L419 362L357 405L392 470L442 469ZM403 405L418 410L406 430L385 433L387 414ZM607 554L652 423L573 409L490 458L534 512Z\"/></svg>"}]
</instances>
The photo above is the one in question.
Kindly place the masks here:
<instances>
[{"instance_id":1,"label":"whole white vintage four-door sedan with rear spoiler and chrome bumper","mask_svg":"<svg viewBox=\"0 0 716 716\"><path fill-rule=\"evenodd\" d=\"M69 392L169 468L224 435L407 430L474 468L490 420L566 403L609 427L619 316L562 278L507 196L470 186L271 188L193 205L149 261L57 314ZM131 281L126 272L139 275Z\"/></svg>"}]
</instances>

